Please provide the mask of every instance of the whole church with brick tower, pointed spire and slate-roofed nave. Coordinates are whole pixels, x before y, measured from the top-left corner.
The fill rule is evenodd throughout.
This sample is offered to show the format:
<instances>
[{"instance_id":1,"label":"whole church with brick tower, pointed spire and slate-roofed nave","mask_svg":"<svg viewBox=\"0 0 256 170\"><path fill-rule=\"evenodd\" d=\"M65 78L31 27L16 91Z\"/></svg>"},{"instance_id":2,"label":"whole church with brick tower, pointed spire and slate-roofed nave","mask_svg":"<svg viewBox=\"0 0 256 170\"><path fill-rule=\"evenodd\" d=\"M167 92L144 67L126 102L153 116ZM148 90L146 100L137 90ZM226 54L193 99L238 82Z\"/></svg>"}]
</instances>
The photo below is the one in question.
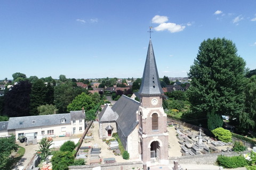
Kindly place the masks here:
<instances>
[{"instance_id":1,"label":"whole church with brick tower, pointed spire and slate-roofed nave","mask_svg":"<svg viewBox=\"0 0 256 170\"><path fill-rule=\"evenodd\" d=\"M141 87L140 102L122 96L112 106L106 105L99 114L100 137L117 132L130 159L141 159L143 169L151 162L168 164L168 133L162 106L163 90L157 72L151 38Z\"/></svg>"}]
</instances>

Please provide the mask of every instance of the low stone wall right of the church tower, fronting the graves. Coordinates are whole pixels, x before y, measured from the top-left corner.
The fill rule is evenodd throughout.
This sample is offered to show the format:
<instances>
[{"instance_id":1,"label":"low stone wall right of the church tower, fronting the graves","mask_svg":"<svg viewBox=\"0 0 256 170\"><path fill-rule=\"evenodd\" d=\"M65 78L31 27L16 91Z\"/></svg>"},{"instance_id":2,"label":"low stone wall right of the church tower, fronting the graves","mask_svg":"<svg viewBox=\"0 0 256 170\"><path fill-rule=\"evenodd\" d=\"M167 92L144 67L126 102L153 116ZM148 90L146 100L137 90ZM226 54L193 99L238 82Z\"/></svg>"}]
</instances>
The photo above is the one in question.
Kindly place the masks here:
<instances>
[{"instance_id":1,"label":"low stone wall right of the church tower, fronting the graves","mask_svg":"<svg viewBox=\"0 0 256 170\"><path fill-rule=\"evenodd\" d=\"M247 154L250 151L244 151L243 154ZM169 157L169 164L172 165L173 161L178 161L179 164L214 164L219 155L224 156L239 156L241 152L219 152L213 154L194 155L194 156L182 156L182 157Z\"/></svg>"}]
</instances>

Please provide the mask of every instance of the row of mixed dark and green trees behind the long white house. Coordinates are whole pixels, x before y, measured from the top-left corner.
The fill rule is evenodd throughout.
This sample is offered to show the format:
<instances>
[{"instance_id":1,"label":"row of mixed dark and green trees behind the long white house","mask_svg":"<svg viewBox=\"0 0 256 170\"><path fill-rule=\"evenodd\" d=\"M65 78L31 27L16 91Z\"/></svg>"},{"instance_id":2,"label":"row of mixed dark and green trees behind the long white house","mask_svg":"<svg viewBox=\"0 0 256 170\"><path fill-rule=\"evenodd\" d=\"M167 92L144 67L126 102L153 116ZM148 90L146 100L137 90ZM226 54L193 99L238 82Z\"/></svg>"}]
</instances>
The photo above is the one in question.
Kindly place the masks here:
<instances>
[{"instance_id":1,"label":"row of mixed dark and green trees behind the long white house","mask_svg":"<svg viewBox=\"0 0 256 170\"><path fill-rule=\"evenodd\" d=\"M7 117L67 113L81 110L82 107L89 111L101 100L99 94L89 95L86 89L77 87L76 83L72 79L66 79L65 75L60 75L59 80L49 77L31 81L25 74L14 73L13 79L17 83L11 89L6 89L4 97L0 98L0 115ZM75 97L81 94L82 98L86 99L80 103L77 103L77 99L68 107ZM1 121L7 121L7 117L2 116Z\"/></svg>"}]
</instances>

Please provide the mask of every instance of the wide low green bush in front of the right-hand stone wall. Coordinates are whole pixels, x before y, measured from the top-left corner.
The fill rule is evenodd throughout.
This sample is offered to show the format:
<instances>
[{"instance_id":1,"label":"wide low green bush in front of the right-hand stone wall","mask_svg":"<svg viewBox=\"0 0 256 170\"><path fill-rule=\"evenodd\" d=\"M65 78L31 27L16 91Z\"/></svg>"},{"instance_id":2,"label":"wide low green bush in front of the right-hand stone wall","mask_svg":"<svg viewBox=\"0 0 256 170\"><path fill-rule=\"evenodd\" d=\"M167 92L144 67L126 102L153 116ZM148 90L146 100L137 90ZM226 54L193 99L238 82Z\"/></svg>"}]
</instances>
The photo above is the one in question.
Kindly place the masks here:
<instances>
[{"instance_id":1,"label":"wide low green bush in front of the right-hand stone wall","mask_svg":"<svg viewBox=\"0 0 256 170\"><path fill-rule=\"evenodd\" d=\"M237 168L248 165L247 160L243 156L218 156L217 163L224 168Z\"/></svg>"}]
</instances>

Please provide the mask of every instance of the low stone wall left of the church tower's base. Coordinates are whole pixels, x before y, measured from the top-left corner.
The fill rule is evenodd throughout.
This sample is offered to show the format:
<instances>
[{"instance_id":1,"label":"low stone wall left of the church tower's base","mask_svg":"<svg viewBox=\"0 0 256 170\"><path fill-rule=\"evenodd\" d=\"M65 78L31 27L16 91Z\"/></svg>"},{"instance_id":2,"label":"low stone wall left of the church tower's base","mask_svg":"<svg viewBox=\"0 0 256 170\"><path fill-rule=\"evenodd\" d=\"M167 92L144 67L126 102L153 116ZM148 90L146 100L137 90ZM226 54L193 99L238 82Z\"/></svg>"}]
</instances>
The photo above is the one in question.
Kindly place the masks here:
<instances>
[{"instance_id":1,"label":"low stone wall left of the church tower's base","mask_svg":"<svg viewBox=\"0 0 256 170\"><path fill-rule=\"evenodd\" d=\"M173 163L172 163L173 164ZM81 165L81 166L69 166L69 170L92 170L92 168L100 166L101 170L129 170L129 169L142 169L142 162L126 162L115 164L101 164L101 165Z\"/></svg>"}]
</instances>

